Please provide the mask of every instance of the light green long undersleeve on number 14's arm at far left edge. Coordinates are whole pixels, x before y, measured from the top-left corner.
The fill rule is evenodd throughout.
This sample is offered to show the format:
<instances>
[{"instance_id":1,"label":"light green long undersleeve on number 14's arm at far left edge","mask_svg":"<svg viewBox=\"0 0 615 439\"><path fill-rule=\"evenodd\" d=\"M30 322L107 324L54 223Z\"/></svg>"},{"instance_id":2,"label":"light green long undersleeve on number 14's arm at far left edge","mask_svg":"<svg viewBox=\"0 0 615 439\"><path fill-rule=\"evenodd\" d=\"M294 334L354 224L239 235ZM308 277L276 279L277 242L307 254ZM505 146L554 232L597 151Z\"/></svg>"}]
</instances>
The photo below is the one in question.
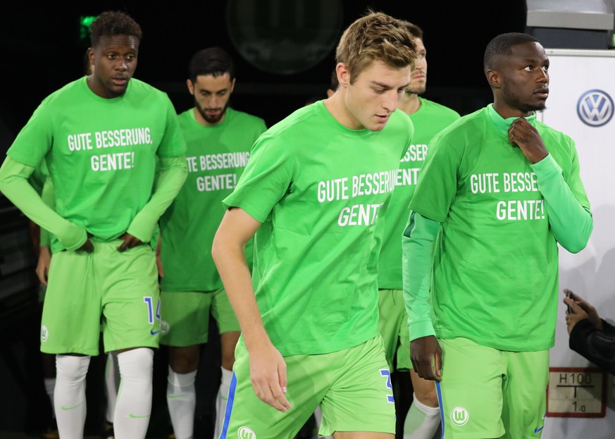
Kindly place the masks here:
<instances>
[{"instance_id":1,"label":"light green long undersleeve on number 14's arm at far left edge","mask_svg":"<svg viewBox=\"0 0 615 439\"><path fill-rule=\"evenodd\" d=\"M28 183L35 168L7 157L0 168L0 191L4 193L25 216L41 228L56 235L64 248L75 250L87 240L87 232L80 225L71 223L47 206Z\"/></svg>"}]
</instances>

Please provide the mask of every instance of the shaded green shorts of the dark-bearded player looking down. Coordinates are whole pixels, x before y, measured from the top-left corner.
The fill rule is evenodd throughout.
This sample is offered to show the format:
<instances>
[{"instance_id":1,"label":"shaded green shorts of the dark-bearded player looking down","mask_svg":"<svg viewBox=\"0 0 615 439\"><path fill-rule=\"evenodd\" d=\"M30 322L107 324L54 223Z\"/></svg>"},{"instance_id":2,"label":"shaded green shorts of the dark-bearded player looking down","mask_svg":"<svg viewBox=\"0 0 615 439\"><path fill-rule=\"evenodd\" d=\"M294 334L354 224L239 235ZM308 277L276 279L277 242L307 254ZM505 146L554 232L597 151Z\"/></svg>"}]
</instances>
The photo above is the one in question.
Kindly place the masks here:
<instances>
[{"instance_id":1,"label":"shaded green shorts of the dark-bearded player looking down","mask_svg":"<svg viewBox=\"0 0 615 439\"><path fill-rule=\"evenodd\" d=\"M220 334L240 332L224 288L206 292L161 292L161 344L184 347L206 343L210 309Z\"/></svg>"}]
</instances>

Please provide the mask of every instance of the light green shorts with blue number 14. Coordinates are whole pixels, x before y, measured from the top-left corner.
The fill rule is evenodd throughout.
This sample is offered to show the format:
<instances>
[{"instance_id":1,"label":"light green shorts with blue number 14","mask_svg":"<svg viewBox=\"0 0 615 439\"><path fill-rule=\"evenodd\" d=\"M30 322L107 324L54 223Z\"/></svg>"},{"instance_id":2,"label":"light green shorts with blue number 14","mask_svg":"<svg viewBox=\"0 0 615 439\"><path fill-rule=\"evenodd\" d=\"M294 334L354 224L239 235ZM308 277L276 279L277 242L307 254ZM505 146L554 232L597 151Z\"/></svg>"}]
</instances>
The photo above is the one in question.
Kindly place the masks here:
<instances>
[{"instance_id":1,"label":"light green shorts with blue number 14","mask_svg":"<svg viewBox=\"0 0 615 439\"><path fill-rule=\"evenodd\" d=\"M118 252L121 240L93 241L94 252L51 258L41 321L41 351L99 354L159 347L160 294L149 245ZM102 319L101 319L102 316Z\"/></svg>"}]
</instances>

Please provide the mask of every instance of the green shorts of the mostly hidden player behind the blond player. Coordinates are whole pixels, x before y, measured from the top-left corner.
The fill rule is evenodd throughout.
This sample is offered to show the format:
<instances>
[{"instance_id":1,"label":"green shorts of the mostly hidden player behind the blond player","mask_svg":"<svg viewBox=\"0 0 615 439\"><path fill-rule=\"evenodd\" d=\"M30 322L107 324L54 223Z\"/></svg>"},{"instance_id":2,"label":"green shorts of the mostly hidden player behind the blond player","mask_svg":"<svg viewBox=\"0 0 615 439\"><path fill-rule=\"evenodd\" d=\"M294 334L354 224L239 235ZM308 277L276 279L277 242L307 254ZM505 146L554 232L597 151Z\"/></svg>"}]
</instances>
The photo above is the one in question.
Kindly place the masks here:
<instances>
[{"instance_id":1,"label":"green shorts of the mostly hidden player behind the blond player","mask_svg":"<svg viewBox=\"0 0 615 439\"><path fill-rule=\"evenodd\" d=\"M383 336L389 369L412 369L408 314L402 290L378 290L378 329Z\"/></svg>"}]
</instances>

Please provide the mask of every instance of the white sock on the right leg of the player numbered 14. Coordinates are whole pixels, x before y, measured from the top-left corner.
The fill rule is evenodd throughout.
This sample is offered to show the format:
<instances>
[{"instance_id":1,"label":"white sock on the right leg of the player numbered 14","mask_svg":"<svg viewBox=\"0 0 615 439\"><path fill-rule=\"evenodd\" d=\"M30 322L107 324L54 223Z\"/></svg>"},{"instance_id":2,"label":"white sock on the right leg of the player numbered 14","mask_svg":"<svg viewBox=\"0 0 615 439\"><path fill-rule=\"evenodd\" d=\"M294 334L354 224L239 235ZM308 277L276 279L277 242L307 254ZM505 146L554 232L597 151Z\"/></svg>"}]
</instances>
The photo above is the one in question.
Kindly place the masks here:
<instances>
[{"instance_id":1,"label":"white sock on the right leg of the player numbered 14","mask_svg":"<svg viewBox=\"0 0 615 439\"><path fill-rule=\"evenodd\" d=\"M117 439L144 439L151 414L154 351L139 347L121 352L118 365L120 388L113 414L113 431Z\"/></svg>"}]
</instances>

